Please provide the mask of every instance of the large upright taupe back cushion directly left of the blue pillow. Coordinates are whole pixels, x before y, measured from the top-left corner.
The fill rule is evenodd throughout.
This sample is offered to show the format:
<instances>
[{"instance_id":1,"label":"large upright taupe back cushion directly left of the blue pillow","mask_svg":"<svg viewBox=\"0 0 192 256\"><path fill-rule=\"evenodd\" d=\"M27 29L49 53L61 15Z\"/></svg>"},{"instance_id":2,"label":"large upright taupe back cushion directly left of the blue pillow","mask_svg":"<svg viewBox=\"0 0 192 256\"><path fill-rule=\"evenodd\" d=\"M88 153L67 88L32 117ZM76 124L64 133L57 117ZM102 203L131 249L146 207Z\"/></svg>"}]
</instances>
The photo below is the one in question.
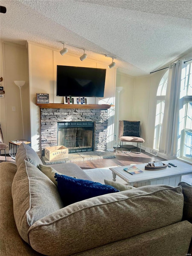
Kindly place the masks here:
<instances>
[{"instance_id":1,"label":"large upright taupe back cushion directly left of the blue pillow","mask_svg":"<svg viewBox=\"0 0 192 256\"><path fill-rule=\"evenodd\" d=\"M29 227L63 207L53 182L26 160L20 164L14 176L12 198L17 229L22 239L28 243Z\"/></svg>"}]
</instances>

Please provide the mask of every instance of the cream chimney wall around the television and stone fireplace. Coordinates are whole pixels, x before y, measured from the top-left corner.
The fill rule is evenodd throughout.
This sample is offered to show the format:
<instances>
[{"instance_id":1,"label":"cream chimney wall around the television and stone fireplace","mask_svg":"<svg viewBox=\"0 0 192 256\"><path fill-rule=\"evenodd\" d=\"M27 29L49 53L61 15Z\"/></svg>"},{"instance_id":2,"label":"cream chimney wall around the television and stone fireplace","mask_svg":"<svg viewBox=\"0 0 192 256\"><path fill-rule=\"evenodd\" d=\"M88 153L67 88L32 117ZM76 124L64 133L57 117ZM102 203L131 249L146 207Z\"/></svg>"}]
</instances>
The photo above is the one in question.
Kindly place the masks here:
<instances>
[{"instance_id":1,"label":"cream chimney wall around the television and stone fireplace","mask_svg":"<svg viewBox=\"0 0 192 256\"><path fill-rule=\"evenodd\" d=\"M90 68L106 68L106 81L104 98L89 98L89 104L114 104L116 69L109 69L108 65L85 59L67 53L61 56L58 50L39 44L28 42L29 52L29 86L30 86L30 111L31 111L31 140L32 147L41 154L40 109L35 105L36 93L48 93L49 103L63 103L63 97L56 96L56 68L57 65L79 66ZM107 149L113 148L114 110L109 109Z\"/></svg>"}]
</instances>

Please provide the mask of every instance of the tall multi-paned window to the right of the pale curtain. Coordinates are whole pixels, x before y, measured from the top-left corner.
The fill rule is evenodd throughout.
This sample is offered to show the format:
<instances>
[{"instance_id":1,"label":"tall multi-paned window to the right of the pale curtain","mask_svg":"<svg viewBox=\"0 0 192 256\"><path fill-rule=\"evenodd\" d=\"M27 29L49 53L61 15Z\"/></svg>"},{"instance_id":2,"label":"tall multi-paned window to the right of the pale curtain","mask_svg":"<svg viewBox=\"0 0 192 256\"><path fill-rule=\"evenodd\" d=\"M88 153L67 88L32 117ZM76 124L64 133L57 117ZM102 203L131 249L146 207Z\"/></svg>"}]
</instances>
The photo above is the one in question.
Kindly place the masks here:
<instances>
[{"instance_id":1,"label":"tall multi-paned window to the right of the pale curtain","mask_svg":"<svg viewBox=\"0 0 192 256\"><path fill-rule=\"evenodd\" d=\"M179 134L178 156L192 161L192 62L182 69L181 94L182 106L179 110Z\"/></svg>"}]
</instances>

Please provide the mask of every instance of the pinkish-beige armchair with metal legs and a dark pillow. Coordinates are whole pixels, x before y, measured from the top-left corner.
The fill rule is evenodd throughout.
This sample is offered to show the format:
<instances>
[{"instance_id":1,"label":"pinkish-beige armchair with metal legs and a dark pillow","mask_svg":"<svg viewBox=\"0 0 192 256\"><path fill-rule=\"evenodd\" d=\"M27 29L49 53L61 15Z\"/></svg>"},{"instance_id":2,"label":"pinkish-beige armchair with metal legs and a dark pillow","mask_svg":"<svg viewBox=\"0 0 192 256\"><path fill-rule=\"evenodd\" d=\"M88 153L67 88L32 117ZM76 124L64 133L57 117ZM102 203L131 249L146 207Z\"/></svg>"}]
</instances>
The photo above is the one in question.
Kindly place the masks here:
<instances>
[{"instance_id":1,"label":"pinkish-beige armchair with metal legs and a dark pillow","mask_svg":"<svg viewBox=\"0 0 192 256\"><path fill-rule=\"evenodd\" d=\"M131 151L130 149L136 149L137 147L132 147L129 148L129 152L132 153L141 153L141 143L145 142L143 138L141 138L140 135L140 121L127 121L127 120L122 120L119 121L119 139L121 140L120 147L121 151L123 151L123 142L137 142L137 147L138 143L140 143L140 152L134 152ZM121 145L122 144L122 145Z\"/></svg>"}]
</instances>

